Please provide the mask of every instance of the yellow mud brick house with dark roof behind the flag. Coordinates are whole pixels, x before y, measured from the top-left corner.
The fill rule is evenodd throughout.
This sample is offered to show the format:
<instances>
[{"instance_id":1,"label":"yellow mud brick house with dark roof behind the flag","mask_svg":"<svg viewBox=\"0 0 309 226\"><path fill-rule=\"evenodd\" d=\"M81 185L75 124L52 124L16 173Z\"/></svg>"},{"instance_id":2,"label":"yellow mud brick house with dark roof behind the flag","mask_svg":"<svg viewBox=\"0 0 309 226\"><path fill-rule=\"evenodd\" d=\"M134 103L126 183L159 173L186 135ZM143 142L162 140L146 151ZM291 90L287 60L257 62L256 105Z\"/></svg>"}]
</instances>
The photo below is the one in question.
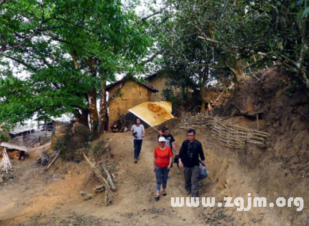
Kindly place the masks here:
<instances>
[{"instance_id":1,"label":"yellow mud brick house with dark roof behind the flag","mask_svg":"<svg viewBox=\"0 0 309 226\"><path fill-rule=\"evenodd\" d=\"M165 84L165 78L158 75L150 75L145 78L146 82L141 82L137 79L128 79L122 86L122 97L117 97L111 101L108 109L108 122L111 123L119 119L119 115L127 114L128 109L133 108L135 105L144 103L147 101L163 101L161 95ZM116 81L113 84L107 86L108 97L111 97L119 84L124 81L123 79Z\"/></svg>"}]
</instances>

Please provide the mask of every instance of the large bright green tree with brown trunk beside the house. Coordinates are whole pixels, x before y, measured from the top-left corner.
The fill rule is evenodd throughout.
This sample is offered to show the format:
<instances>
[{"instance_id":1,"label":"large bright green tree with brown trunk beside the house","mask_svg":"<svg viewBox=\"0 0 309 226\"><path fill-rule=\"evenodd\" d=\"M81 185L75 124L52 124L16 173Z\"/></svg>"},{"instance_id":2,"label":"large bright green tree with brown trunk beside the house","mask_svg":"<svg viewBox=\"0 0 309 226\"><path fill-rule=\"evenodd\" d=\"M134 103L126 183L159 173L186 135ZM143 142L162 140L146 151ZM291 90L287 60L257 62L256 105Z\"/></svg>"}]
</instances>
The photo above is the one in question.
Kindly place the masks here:
<instances>
[{"instance_id":1,"label":"large bright green tree with brown trunk beside the house","mask_svg":"<svg viewBox=\"0 0 309 226\"><path fill-rule=\"evenodd\" d=\"M43 32L40 38L28 41L3 58L25 66L31 74L25 81L32 87L28 101L17 102L29 106L40 100L29 115L73 112L84 125L90 123L98 136L104 129L108 104L122 87L106 100L106 81L114 81L116 73L133 75L139 71L151 40L144 33L146 23L133 10L124 11L121 1L63 4L63 8L75 10L55 17L52 26L57 29ZM1 90L11 85L10 79L5 79ZM0 108L10 105L11 95L5 95ZM98 98L100 110L96 105ZM12 119L6 115L2 120L8 118Z\"/></svg>"}]
</instances>

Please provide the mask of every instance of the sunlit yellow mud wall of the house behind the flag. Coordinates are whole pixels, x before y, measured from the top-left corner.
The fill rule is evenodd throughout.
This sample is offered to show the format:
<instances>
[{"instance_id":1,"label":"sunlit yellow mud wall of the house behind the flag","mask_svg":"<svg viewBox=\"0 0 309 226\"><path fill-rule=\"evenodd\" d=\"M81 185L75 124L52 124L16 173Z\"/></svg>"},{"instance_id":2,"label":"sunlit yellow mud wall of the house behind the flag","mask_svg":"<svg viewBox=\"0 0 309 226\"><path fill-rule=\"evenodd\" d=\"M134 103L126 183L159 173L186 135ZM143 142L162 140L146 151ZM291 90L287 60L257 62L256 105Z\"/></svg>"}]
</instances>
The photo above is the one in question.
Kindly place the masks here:
<instances>
[{"instance_id":1,"label":"sunlit yellow mud wall of the house behind the flag","mask_svg":"<svg viewBox=\"0 0 309 226\"><path fill-rule=\"evenodd\" d=\"M115 85L108 90L108 96L111 97L119 86ZM128 109L133 108L135 105L152 101L152 91L145 86L136 83L135 81L126 81L122 90L122 99L117 97L111 101L108 109L109 125L117 121L119 115L128 113Z\"/></svg>"}]
</instances>

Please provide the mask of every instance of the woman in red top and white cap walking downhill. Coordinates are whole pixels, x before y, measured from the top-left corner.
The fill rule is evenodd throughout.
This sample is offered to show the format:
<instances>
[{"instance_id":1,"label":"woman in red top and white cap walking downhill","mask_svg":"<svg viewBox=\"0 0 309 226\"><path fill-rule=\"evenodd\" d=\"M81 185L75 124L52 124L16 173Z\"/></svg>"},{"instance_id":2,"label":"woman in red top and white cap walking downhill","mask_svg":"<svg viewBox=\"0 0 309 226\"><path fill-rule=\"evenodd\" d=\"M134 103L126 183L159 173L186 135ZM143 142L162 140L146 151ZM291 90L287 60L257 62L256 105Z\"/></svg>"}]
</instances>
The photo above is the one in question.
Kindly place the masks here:
<instances>
[{"instance_id":1,"label":"woman in red top and white cap walking downhill","mask_svg":"<svg viewBox=\"0 0 309 226\"><path fill-rule=\"evenodd\" d=\"M159 138L159 147L155 149L155 158L153 160L153 171L156 173L157 178L157 195L155 196L156 200L160 199L159 192L162 184L162 195L165 196L165 188L168 183L168 173L170 172L170 167L172 165L172 150L170 147L165 145L165 138Z\"/></svg>"}]
</instances>

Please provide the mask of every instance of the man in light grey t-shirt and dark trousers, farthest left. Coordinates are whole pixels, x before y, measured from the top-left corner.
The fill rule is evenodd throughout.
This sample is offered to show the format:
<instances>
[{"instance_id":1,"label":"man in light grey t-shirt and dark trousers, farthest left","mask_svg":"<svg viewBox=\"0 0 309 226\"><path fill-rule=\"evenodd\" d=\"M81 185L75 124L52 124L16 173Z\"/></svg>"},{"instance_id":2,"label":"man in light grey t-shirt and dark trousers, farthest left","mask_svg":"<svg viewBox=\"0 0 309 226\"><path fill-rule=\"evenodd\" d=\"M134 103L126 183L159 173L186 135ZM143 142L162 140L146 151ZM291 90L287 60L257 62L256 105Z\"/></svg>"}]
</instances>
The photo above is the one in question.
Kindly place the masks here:
<instances>
[{"instance_id":1,"label":"man in light grey t-shirt and dark trousers, farthest left","mask_svg":"<svg viewBox=\"0 0 309 226\"><path fill-rule=\"evenodd\" d=\"M135 125L131 127L130 134L134 136L134 162L137 163L139 153L141 153L141 144L145 136L145 128L141 124L140 118L136 118Z\"/></svg>"}]
</instances>

